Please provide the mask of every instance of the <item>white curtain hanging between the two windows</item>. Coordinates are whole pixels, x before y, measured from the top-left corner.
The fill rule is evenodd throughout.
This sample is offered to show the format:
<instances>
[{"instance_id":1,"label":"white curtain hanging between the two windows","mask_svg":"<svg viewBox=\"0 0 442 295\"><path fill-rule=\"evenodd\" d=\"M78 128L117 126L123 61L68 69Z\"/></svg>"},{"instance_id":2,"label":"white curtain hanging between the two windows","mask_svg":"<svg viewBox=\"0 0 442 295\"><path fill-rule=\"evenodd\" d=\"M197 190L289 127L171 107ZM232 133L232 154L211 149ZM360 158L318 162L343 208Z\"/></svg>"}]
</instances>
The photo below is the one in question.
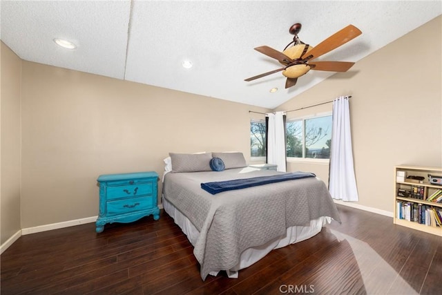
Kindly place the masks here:
<instances>
[{"instance_id":1,"label":"white curtain hanging between the two windows","mask_svg":"<svg viewBox=\"0 0 442 295\"><path fill-rule=\"evenodd\" d=\"M285 112L266 114L269 117L267 133L267 163L277 164L278 171L286 171Z\"/></svg>"}]
</instances>

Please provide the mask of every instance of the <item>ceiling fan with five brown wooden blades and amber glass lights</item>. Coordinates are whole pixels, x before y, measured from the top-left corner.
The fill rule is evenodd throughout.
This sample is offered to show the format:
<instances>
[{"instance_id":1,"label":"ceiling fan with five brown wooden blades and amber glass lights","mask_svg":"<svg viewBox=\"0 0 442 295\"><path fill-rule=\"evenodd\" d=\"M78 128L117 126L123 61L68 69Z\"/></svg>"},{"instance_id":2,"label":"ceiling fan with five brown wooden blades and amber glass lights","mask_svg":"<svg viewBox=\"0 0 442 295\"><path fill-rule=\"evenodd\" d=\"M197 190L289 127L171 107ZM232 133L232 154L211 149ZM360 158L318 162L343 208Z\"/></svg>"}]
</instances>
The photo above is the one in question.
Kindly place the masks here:
<instances>
[{"instance_id":1,"label":"ceiling fan with five brown wooden blades and amber glass lights","mask_svg":"<svg viewBox=\"0 0 442 295\"><path fill-rule=\"evenodd\" d=\"M287 77L285 82L285 88L295 86L298 81L298 77L305 75L309 70L327 70L332 72L346 72L354 65L354 62L348 61L312 61L316 57L320 57L329 51L338 48L339 46L347 43L348 41L358 37L362 34L361 30L353 25L346 26L342 30L334 33L334 35L328 37L316 47L311 47L309 44L305 44L298 38L298 32L301 29L300 23L295 23L290 27L289 32L294 35L293 41L291 41L282 53L269 46L260 46L254 48L260 53L277 59L284 67L277 70L271 70L270 72L263 73L244 81L250 82L254 79L262 78L273 73L282 71L282 75ZM294 44L293 46L290 46ZM290 47L289 47L290 46Z\"/></svg>"}]
</instances>

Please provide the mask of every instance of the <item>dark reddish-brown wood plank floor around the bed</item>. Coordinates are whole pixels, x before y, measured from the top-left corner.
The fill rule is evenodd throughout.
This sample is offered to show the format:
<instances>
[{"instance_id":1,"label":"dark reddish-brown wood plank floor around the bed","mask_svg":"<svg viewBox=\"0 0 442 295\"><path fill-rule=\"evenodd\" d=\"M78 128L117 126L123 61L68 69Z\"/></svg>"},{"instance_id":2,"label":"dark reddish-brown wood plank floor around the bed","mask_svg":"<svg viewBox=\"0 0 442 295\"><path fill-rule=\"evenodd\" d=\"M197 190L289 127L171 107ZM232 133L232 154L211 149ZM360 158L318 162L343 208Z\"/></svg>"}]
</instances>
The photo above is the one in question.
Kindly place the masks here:
<instances>
[{"instance_id":1,"label":"dark reddish-brown wood plank floor around the bed","mask_svg":"<svg viewBox=\"0 0 442 295\"><path fill-rule=\"evenodd\" d=\"M137 222L21 236L1 255L1 294L442 294L442 238L338 206L342 225L200 278L193 248L162 211Z\"/></svg>"}]
</instances>

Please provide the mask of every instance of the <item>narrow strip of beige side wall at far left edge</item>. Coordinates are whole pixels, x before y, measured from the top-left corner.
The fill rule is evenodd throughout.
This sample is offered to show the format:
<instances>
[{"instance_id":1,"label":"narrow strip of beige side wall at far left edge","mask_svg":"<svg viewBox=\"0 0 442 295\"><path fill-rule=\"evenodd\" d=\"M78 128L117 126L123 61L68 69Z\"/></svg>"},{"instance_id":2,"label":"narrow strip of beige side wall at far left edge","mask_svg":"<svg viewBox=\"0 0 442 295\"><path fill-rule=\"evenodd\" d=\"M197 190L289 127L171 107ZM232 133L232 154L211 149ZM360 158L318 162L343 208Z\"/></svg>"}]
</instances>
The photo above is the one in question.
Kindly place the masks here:
<instances>
[{"instance_id":1,"label":"narrow strip of beige side wall at far left edge","mask_svg":"<svg viewBox=\"0 0 442 295\"><path fill-rule=\"evenodd\" d=\"M3 245L20 225L20 92L21 59L3 42L1 46L1 172L0 216Z\"/></svg>"}]
</instances>

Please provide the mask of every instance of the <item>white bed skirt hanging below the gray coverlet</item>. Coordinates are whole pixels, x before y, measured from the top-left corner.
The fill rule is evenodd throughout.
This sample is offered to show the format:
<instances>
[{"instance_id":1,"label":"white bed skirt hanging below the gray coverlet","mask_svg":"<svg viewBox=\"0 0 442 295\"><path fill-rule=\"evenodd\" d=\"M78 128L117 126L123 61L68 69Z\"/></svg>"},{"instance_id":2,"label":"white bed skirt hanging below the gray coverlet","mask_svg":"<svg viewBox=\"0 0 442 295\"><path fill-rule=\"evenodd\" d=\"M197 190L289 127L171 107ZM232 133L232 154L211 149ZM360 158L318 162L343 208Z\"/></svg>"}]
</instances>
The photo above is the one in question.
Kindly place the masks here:
<instances>
[{"instance_id":1,"label":"white bed skirt hanging below the gray coverlet","mask_svg":"<svg viewBox=\"0 0 442 295\"><path fill-rule=\"evenodd\" d=\"M200 232L198 229L196 229L195 225L193 225L193 223L186 218L181 211L176 209L173 204L168 202L164 197L162 197L162 204L164 211L166 211L166 213L173 218L175 223L187 236L189 242L195 246L195 242L198 240L198 236L200 236ZM253 263L256 263L258 260L269 254L271 250L282 248L296 242L301 242L302 240L307 240L308 238L318 234L323 226L330 222L332 222L332 218L323 216L318 219L311 220L309 226L289 227L285 236L280 236L274 240L271 240L265 245L245 249L240 256L240 261L238 264L231 269L226 269L227 275L229 278L238 278L238 271L240 269L253 265ZM217 276L218 272L211 272L210 274L211 276Z\"/></svg>"}]
</instances>

